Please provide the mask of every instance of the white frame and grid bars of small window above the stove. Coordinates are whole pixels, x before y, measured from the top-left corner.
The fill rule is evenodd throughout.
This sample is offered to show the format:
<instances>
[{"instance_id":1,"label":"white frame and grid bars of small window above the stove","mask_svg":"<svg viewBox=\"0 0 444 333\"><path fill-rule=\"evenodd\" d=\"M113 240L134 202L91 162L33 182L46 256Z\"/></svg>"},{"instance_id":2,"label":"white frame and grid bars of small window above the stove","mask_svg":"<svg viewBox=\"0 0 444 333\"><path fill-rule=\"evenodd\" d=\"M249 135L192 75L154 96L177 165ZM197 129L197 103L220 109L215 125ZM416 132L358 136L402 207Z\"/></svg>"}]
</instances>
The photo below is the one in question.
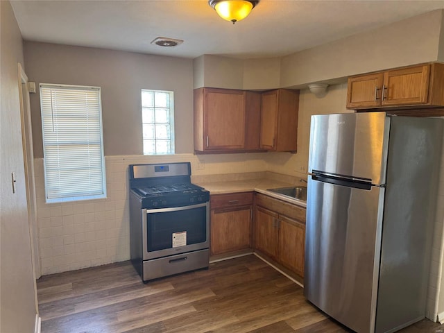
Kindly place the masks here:
<instances>
[{"instance_id":1,"label":"white frame and grid bars of small window above the stove","mask_svg":"<svg viewBox=\"0 0 444 333\"><path fill-rule=\"evenodd\" d=\"M169 94L169 145L170 145L170 152L169 153L145 153L145 139L144 139L144 124L148 124L148 123L144 123L144 119L143 119L143 112L144 112L144 108L151 108L149 106L144 106L143 104L143 98L142 95L144 92L153 92L153 94L155 94L156 92L162 92L162 93L167 93ZM175 131L176 128L174 126L174 92L172 90L162 90L162 89L145 89L142 88L140 91L140 112L142 115L142 155L144 156L156 156L156 155L174 155L176 153L176 146L175 146ZM155 101L153 100L153 109L155 109ZM153 124L154 126L156 124L163 124L163 123L156 123L155 122L155 116L154 116L154 122L153 123L149 123L149 124ZM154 143L156 143L157 140L160 141L167 141L165 139L157 139L156 137L154 137Z\"/></svg>"}]
</instances>

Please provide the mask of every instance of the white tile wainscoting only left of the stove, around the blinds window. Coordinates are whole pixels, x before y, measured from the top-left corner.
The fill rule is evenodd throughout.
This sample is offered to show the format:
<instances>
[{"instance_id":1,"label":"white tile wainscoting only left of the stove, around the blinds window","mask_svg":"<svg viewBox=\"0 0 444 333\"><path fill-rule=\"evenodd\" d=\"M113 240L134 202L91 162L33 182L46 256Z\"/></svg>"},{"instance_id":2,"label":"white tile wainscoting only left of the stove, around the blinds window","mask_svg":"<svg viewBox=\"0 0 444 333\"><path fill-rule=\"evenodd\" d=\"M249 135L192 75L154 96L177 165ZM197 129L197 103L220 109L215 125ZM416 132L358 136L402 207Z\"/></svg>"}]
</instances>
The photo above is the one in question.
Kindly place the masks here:
<instances>
[{"instance_id":1,"label":"white tile wainscoting only left of the stove, around the blinds window","mask_svg":"<svg viewBox=\"0 0 444 333\"><path fill-rule=\"evenodd\" d=\"M43 159L35 160L42 275L129 259L129 213L123 164L106 160L108 197L45 203Z\"/></svg>"}]
</instances>

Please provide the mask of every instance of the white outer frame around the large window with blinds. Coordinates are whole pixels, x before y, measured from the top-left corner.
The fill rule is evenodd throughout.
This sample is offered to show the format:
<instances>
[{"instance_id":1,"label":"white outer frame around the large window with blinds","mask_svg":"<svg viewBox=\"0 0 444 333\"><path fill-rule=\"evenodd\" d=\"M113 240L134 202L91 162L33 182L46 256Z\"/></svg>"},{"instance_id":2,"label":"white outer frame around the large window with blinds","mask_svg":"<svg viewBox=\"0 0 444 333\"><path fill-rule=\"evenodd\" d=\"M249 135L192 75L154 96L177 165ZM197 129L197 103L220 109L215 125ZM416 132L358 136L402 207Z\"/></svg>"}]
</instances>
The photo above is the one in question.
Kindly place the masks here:
<instances>
[{"instance_id":1,"label":"white outer frame around the large window with blinds","mask_svg":"<svg viewBox=\"0 0 444 333\"><path fill-rule=\"evenodd\" d=\"M103 150L103 117L102 117L102 94L101 94L101 87L96 86L89 86L89 85L62 85L62 84L53 84L53 83L40 83L40 119L42 121L42 146L43 146L43 167L44 167L44 182L45 182L45 200L46 203L65 203L65 202L72 202L72 201L80 201L80 200L95 200L95 199L103 199L107 197L107 188L106 188L106 171L105 171L105 152ZM45 144L45 128L44 128L44 108L43 103L44 99L42 99L42 88L44 89L65 89L65 90L92 90L97 92L97 99L98 99L98 118L99 118L99 128L100 133L99 139L100 139L100 145L99 145L99 151L100 151L100 164L101 164L101 193L100 194L75 194L73 193L71 196L53 196L49 198L49 183L48 183L48 173L47 173L47 158L49 154L46 154L46 146L49 146L50 144ZM53 103L52 101L49 101L49 103ZM52 108L52 107L51 107ZM89 144L89 141L86 144ZM85 144L84 144L85 145ZM60 145L57 145L60 146ZM99 159L99 157L96 157ZM58 159L60 160L60 159ZM62 183L63 185L63 183Z\"/></svg>"}]
</instances>

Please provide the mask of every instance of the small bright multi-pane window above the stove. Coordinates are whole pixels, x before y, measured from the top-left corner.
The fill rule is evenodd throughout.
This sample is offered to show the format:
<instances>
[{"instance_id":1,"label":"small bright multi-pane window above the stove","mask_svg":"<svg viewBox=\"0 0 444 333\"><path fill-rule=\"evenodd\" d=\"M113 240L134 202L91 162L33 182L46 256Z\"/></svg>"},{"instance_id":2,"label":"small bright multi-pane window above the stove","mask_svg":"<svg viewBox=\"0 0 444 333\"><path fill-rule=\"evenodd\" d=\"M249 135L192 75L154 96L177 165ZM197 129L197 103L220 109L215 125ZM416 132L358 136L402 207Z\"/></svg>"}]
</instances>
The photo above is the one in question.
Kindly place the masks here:
<instances>
[{"instance_id":1,"label":"small bright multi-pane window above the stove","mask_svg":"<svg viewBox=\"0 0 444 333\"><path fill-rule=\"evenodd\" d=\"M173 92L142 89L144 155L174 153Z\"/></svg>"}]
</instances>

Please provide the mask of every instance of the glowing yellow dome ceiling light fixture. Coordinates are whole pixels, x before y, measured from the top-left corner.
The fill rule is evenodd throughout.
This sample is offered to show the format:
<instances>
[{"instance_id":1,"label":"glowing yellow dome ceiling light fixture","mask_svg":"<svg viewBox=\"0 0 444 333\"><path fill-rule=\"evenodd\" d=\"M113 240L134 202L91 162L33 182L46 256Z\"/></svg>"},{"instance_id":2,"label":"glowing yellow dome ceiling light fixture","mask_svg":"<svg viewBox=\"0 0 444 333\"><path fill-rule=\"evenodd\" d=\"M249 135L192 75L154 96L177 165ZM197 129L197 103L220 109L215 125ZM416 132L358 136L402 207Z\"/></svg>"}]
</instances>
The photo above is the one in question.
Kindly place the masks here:
<instances>
[{"instance_id":1,"label":"glowing yellow dome ceiling light fixture","mask_svg":"<svg viewBox=\"0 0 444 333\"><path fill-rule=\"evenodd\" d=\"M250 0L209 0L208 3L220 17L227 21L236 23L241 19L245 19L250 11L255 8L257 1Z\"/></svg>"}]
</instances>

